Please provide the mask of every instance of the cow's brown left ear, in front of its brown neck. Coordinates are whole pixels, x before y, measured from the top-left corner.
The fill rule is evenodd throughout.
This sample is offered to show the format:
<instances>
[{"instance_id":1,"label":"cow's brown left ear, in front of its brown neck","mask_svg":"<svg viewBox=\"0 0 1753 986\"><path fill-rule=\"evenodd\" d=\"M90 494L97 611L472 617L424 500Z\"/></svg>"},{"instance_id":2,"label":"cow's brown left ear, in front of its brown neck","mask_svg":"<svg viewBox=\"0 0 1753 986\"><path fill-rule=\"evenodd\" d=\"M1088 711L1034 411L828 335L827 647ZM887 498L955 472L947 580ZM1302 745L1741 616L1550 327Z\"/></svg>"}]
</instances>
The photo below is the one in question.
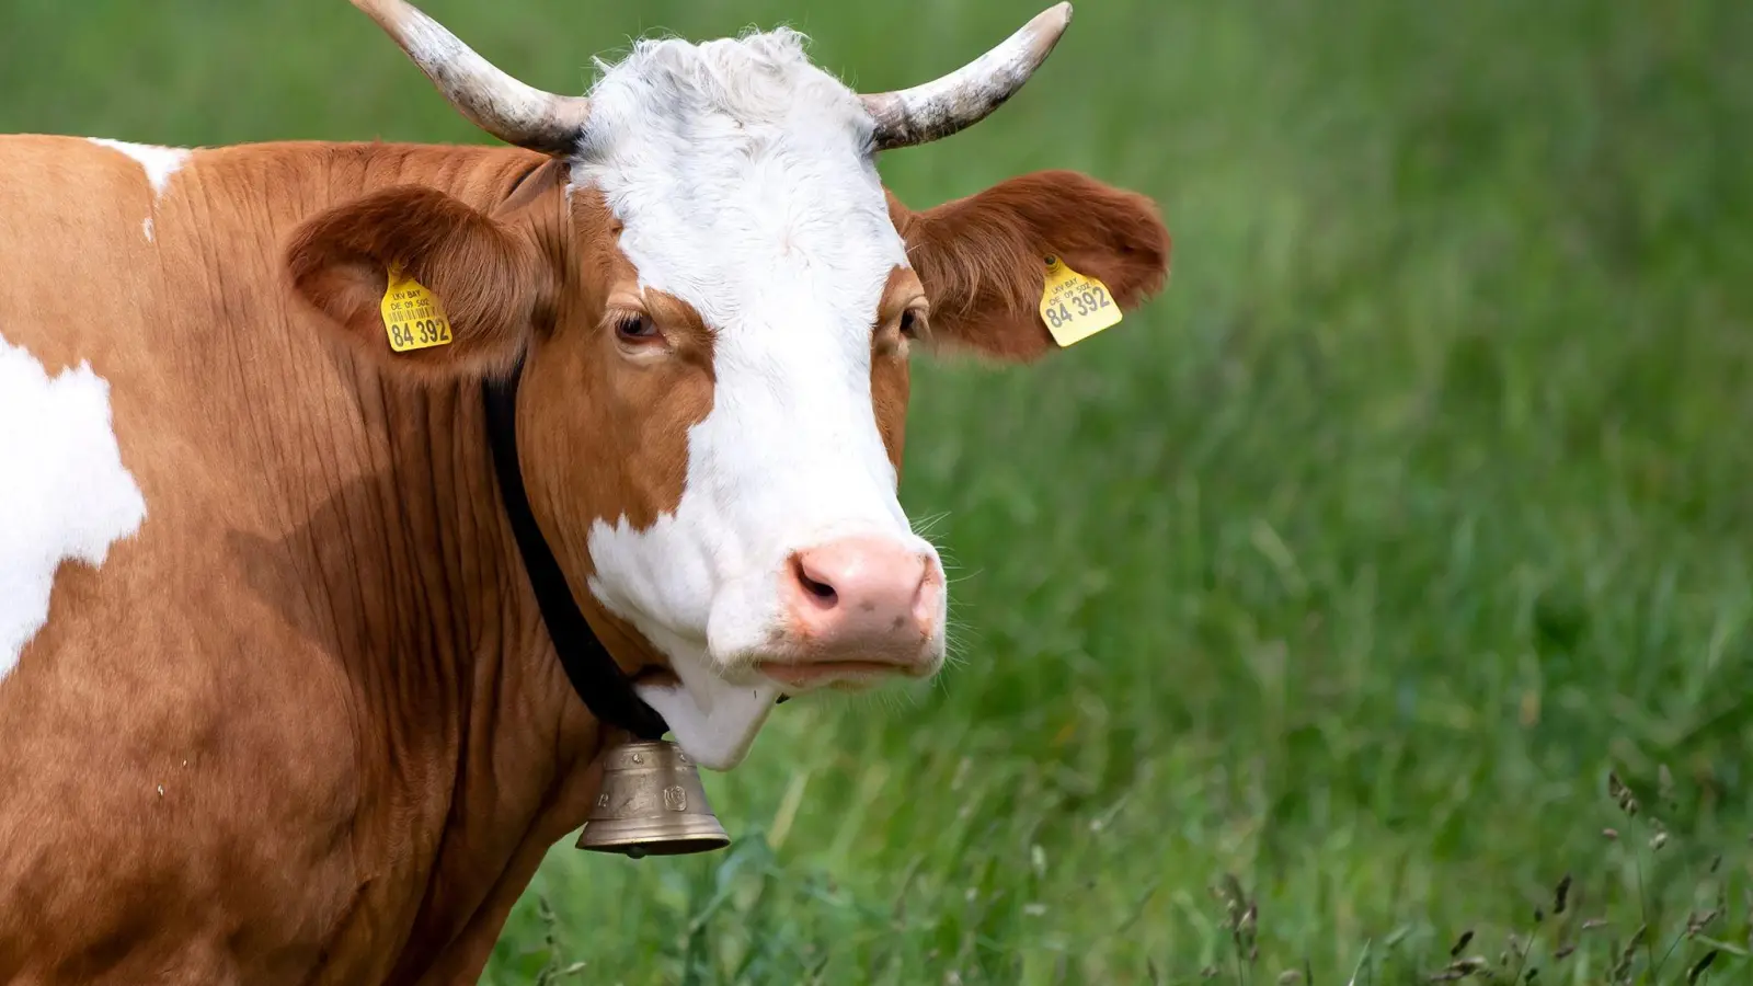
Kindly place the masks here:
<instances>
[{"instance_id":1,"label":"cow's brown left ear, in front of its brown neck","mask_svg":"<svg viewBox=\"0 0 1753 986\"><path fill-rule=\"evenodd\" d=\"M543 304L540 258L515 223L431 188L398 186L300 225L286 246L286 272L293 291L356 351L426 379L456 379L501 374L517 361ZM442 307L449 333L436 319L419 318L394 335L403 349L393 346L384 318L393 270L401 277L396 298L421 298L424 289ZM449 342L421 346L445 335Z\"/></svg>"}]
</instances>

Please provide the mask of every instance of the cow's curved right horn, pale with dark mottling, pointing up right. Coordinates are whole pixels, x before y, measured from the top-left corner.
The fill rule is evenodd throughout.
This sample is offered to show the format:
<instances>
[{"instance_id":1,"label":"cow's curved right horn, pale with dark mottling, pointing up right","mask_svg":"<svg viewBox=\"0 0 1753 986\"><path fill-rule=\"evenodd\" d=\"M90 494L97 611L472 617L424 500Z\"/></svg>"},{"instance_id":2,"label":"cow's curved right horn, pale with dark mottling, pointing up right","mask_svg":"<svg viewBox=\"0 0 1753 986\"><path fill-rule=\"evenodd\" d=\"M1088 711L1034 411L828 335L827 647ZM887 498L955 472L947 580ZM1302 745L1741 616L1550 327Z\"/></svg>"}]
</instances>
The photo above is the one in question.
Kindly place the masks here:
<instances>
[{"instance_id":1,"label":"cow's curved right horn, pale with dark mottling, pointing up right","mask_svg":"<svg viewBox=\"0 0 1753 986\"><path fill-rule=\"evenodd\" d=\"M1057 4L955 72L912 89L859 96L876 123L875 149L929 144L966 130L1029 81L1071 25L1071 4Z\"/></svg>"}]
</instances>

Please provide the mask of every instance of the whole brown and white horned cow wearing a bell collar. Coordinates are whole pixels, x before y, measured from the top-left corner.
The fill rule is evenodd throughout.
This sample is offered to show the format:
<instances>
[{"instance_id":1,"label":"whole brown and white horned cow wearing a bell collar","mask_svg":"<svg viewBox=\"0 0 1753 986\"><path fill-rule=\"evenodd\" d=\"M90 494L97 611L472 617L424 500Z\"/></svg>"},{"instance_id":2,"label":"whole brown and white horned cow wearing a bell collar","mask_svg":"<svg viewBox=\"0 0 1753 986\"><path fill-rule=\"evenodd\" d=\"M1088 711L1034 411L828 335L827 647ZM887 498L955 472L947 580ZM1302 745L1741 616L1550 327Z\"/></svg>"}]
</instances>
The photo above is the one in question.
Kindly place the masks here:
<instances>
[{"instance_id":1,"label":"whole brown and white horned cow wearing a bell collar","mask_svg":"<svg viewBox=\"0 0 1753 986\"><path fill-rule=\"evenodd\" d=\"M498 447L570 605L729 770L784 697L943 663L912 353L1055 353L1055 263L1120 311L1166 282L1136 191L878 177L1066 4L899 91L773 30L640 40L584 96L354 4L496 142L0 137L4 982L477 979L624 739L482 388L515 382Z\"/></svg>"}]
</instances>

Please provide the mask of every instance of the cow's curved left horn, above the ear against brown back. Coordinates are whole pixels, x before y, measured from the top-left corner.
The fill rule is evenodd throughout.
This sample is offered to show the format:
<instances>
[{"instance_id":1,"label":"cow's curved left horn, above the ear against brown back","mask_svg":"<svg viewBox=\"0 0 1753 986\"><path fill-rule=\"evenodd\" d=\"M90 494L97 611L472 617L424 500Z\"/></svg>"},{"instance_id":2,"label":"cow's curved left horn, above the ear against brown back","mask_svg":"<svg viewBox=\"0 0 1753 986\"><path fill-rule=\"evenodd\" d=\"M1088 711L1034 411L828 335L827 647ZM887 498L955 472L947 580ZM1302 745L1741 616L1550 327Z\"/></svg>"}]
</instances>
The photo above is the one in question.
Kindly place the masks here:
<instances>
[{"instance_id":1,"label":"cow's curved left horn, above the ear against brown back","mask_svg":"<svg viewBox=\"0 0 1753 986\"><path fill-rule=\"evenodd\" d=\"M370 14L475 126L547 154L570 154L577 146L591 100L557 96L512 79L405 0L352 0L352 5Z\"/></svg>"}]
</instances>

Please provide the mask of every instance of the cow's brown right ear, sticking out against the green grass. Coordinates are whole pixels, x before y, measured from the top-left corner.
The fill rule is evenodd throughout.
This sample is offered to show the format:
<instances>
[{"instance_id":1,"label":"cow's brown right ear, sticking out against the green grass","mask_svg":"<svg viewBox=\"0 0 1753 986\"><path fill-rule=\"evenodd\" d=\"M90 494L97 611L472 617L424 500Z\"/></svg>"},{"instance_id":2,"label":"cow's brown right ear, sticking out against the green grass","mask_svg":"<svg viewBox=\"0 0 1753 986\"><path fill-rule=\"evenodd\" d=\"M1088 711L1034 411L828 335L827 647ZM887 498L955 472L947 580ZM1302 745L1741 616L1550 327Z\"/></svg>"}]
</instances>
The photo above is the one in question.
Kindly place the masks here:
<instances>
[{"instance_id":1,"label":"cow's brown right ear, sticking out against the green grass","mask_svg":"<svg viewBox=\"0 0 1753 986\"><path fill-rule=\"evenodd\" d=\"M1167 277L1169 232L1155 205L1078 172L1013 177L924 212L891 195L889 216L931 300L931 349L1003 361L1055 349L1041 321L1050 256L1106 284L1122 311Z\"/></svg>"}]
</instances>

